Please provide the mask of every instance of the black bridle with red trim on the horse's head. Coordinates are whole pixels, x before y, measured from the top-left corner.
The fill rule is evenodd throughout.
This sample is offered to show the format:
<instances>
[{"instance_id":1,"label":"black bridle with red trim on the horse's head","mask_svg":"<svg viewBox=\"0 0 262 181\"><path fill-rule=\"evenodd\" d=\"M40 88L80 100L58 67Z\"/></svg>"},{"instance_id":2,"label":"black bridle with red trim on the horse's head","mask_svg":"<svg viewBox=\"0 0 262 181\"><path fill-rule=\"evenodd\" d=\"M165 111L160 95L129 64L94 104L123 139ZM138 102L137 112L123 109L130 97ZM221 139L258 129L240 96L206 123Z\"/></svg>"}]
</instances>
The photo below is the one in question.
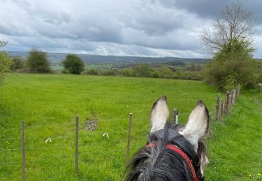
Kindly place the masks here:
<instances>
[{"instance_id":1,"label":"black bridle with red trim on the horse's head","mask_svg":"<svg viewBox=\"0 0 262 181\"><path fill-rule=\"evenodd\" d=\"M198 156L196 155L196 152L191 143L189 143L189 141L187 141L184 136L174 129L160 129L159 131L155 132L154 135L157 136L157 139L161 140L163 140L164 136L167 135L169 143L165 145L166 149L173 150L184 158L190 168L194 181L205 180L204 175L201 173L201 164L199 163ZM146 145L147 148L155 146L157 146L156 143L147 143Z\"/></svg>"}]
</instances>

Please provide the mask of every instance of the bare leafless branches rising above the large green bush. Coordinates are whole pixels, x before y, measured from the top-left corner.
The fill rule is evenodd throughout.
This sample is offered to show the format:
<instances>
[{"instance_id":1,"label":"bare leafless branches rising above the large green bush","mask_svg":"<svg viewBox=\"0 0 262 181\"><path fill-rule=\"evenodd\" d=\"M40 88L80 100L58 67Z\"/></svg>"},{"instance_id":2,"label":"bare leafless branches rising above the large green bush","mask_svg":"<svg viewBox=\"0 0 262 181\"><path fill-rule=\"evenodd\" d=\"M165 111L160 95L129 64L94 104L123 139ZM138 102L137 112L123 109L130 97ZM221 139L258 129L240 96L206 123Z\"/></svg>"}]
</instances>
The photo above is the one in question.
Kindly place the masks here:
<instances>
[{"instance_id":1,"label":"bare leafless branches rising above the large green bush","mask_svg":"<svg viewBox=\"0 0 262 181\"><path fill-rule=\"evenodd\" d=\"M240 0L235 0L214 17L212 31L203 31L201 35L203 47L214 53L221 50L224 45L231 45L233 40L242 40L251 45L254 22L252 13L245 10Z\"/></svg>"}]
</instances>

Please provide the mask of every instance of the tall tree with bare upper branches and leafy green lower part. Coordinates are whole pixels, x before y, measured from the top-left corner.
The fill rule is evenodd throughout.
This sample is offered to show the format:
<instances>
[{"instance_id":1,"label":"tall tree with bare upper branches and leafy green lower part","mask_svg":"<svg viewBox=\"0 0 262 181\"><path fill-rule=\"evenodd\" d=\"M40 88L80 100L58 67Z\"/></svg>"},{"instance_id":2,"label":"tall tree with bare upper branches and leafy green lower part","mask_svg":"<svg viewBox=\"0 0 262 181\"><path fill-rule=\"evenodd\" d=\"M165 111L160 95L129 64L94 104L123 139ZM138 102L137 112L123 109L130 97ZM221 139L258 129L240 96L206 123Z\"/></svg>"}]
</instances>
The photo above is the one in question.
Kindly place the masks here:
<instances>
[{"instance_id":1,"label":"tall tree with bare upper branches and leafy green lower part","mask_svg":"<svg viewBox=\"0 0 262 181\"><path fill-rule=\"evenodd\" d=\"M212 60L203 70L205 80L230 91L235 84L250 88L256 79L252 58L254 17L235 0L214 18L212 32L204 31L203 45L212 52Z\"/></svg>"}]
</instances>

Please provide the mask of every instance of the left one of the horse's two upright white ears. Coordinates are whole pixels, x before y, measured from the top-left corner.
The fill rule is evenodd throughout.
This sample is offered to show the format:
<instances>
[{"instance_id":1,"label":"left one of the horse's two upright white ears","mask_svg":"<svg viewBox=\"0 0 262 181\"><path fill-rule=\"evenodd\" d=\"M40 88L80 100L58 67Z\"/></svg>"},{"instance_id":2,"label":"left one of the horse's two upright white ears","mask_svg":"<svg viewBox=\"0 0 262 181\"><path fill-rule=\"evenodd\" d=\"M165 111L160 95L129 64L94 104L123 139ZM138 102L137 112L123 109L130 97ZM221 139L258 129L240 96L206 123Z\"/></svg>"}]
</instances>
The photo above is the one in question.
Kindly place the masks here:
<instances>
[{"instance_id":1,"label":"left one of the horse's two upright white ears","mask_svg":"<svg viewBox=\"0 0 262 181\"><path fill-rule=\"evenodd\" d=\"M150 123L152 125L151 133L157 132L159 129L163 129L168 120L169 111L166 104L166 96L160 97L151 109Z\"/></svg>"}]
</instances>

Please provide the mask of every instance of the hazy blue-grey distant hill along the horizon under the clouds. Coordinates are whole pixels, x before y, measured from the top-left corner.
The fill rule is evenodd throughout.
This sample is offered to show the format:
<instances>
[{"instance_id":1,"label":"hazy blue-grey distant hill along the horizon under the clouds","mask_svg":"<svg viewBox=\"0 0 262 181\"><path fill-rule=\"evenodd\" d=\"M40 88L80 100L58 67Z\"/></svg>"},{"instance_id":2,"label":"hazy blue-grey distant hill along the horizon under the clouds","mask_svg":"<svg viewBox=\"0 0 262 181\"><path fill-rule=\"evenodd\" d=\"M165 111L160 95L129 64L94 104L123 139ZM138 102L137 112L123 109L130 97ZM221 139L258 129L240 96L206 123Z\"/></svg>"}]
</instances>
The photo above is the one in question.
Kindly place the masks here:
<instances>
[{"instance_id":1,"label":"hazy blue-grey distant hill along the horizon under the clouds","mask_svg":"<svg viewBox=\"0 0 262 181\"><path fill-rule=\"evenodd\" d=\"M22 56L24 59L27 58L28 52L16 52L10 51L10 56ZM177 63L203 63L207 59L205 58L177 58L177 57L143 57L143 56L101 56L101 55L90 55L90 54L78 54L86 63L167 63L169 65L176 65ZM57 65L64 60L66 54L64 53L49 53L48 59L53 65Z\"/></svg>"}]
</instances>

